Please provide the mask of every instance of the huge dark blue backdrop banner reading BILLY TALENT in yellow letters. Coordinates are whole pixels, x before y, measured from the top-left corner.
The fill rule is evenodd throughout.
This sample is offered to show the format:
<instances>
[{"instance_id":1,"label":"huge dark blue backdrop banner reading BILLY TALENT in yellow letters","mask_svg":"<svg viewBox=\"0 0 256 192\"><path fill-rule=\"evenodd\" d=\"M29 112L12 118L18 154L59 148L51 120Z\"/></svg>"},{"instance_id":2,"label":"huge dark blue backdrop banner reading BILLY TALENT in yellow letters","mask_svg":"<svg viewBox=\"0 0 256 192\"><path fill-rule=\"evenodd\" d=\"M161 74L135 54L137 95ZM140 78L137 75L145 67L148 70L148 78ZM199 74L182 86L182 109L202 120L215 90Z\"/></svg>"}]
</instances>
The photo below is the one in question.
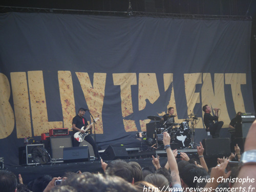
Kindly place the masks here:
<instances>
[{"instance_id":1,"label":"huge dark blue backdrop banner reading BILLY TALENT in yellow letters","mask_svg":"<svg viewBox=\"0 0 256 192\"><path fill-rule=\"evenodd\" d=\"M169 106L175 122L196 114L198 141L205 104L228 127L254 113L250 31L248 20L0 14L0 157L17 165L24 138L71 131L81 107L99 118L102 148L139 147L147 117Z\"/></svg>"}]
</instances>

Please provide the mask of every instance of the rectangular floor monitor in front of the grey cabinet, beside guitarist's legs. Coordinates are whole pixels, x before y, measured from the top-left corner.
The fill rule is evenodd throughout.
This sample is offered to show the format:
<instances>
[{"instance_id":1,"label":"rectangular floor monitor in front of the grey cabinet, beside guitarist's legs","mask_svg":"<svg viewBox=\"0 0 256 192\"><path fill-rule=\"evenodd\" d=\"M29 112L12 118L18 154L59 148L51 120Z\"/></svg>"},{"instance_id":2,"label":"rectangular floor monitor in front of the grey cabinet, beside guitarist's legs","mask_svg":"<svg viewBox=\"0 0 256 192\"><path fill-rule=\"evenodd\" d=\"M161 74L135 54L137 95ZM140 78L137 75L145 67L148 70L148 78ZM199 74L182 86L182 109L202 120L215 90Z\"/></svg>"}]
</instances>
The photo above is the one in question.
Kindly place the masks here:
<instances>
[{"instance_id":1,"label":"rectangular floor monitor in front of the grey cabinet, beside guitarist's legs","mask_svg":"<svg viewBox=\"0 0 256 192\"><path fill-rule=\"evenodd\" d=\"M63 148L63 162L84 162L89 161L90 154L88 146L66 147Z\"/></svg>"}]
</instances>

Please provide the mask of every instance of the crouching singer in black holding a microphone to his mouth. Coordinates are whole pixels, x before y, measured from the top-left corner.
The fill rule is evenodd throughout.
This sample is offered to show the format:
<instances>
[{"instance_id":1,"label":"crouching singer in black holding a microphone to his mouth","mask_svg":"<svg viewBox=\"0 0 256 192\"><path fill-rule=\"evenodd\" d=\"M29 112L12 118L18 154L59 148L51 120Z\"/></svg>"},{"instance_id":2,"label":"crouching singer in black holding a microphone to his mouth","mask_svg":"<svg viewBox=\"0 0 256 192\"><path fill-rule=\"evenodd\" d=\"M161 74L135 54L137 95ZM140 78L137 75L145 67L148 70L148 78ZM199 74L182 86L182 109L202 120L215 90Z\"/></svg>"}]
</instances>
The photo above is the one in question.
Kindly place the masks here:
<instances>
[{"instance_id":1,"label":"crouching singer in black holding a microphone to his mouth","mask_svg":"<svg viewBox=\"0 0 256 192\"><path fill-rule=\"evenodd\" d=\"M208 106L207 104L203 106L203 111L204 111L204 124L205 124L205 129L206 131L210 132L210 134L212 135L212 138L219 138L220 137L220 131L221 131L221 127L223 125L223 121L218 121L219 115L218 115L218 111L219 109L214 109L215 111L215 116L212 116L211 113L211 109L210 106ZM218 122L214 122L214 121L218 121Z\"/></svg>"}]
</instances>

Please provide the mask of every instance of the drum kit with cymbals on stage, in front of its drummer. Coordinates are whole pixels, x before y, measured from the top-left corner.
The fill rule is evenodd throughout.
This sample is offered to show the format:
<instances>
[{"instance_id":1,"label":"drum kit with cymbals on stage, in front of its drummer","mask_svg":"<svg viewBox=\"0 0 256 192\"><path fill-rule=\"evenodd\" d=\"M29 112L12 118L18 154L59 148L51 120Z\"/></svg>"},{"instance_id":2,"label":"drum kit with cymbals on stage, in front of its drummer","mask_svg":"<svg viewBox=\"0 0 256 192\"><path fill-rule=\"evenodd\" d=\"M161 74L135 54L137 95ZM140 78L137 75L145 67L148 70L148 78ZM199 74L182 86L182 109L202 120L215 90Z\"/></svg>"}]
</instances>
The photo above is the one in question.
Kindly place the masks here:
<instances>
[{"instance_id":1,"label":"drum kit with cymbals on stage, in front of its drummer","mask_svg":"<svg viewBox=\"0 0 256 192\"><path fill-rule=\"evenodd\" d=\"M176 117L176 115L167 116L167 118L172 117ZM163 147L163 133L167 132L170 135L170 144L176 144L178 149L195 148L195 124L198 119L196 115L188 115L188 119L183 120L182 123L167 123L167 120L163 121L161 117L158 116L148 116L147 118L155 122L155 141L149 138L152 140L149 143L150 145L152 144L151 147L155 149ZM141 139L141 141L148 140L146 132L138 132L136 138Z\"/></svg>"}]
</instances>

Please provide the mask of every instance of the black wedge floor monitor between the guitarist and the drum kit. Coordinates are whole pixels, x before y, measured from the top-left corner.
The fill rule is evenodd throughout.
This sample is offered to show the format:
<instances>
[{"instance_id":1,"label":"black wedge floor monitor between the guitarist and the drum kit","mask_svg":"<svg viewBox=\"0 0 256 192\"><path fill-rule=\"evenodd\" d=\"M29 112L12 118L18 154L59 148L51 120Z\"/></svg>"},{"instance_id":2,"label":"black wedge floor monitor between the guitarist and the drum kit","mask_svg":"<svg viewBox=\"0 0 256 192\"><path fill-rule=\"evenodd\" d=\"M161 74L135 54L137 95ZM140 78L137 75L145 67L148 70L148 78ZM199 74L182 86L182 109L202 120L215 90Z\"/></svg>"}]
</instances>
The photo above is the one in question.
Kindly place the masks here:
<instances>
[{"instance_id":1,"label":"black wedge floor monitor between the guitarist and the drum kit","mask_svg":"<svg viewBox=\"0 0 256 192\"><path fill-rule=\"evenodd\" d=\"M124 146L110 145L101 155L103 160L127 159L128 153Z\"/></svg>"}]
</instances>

